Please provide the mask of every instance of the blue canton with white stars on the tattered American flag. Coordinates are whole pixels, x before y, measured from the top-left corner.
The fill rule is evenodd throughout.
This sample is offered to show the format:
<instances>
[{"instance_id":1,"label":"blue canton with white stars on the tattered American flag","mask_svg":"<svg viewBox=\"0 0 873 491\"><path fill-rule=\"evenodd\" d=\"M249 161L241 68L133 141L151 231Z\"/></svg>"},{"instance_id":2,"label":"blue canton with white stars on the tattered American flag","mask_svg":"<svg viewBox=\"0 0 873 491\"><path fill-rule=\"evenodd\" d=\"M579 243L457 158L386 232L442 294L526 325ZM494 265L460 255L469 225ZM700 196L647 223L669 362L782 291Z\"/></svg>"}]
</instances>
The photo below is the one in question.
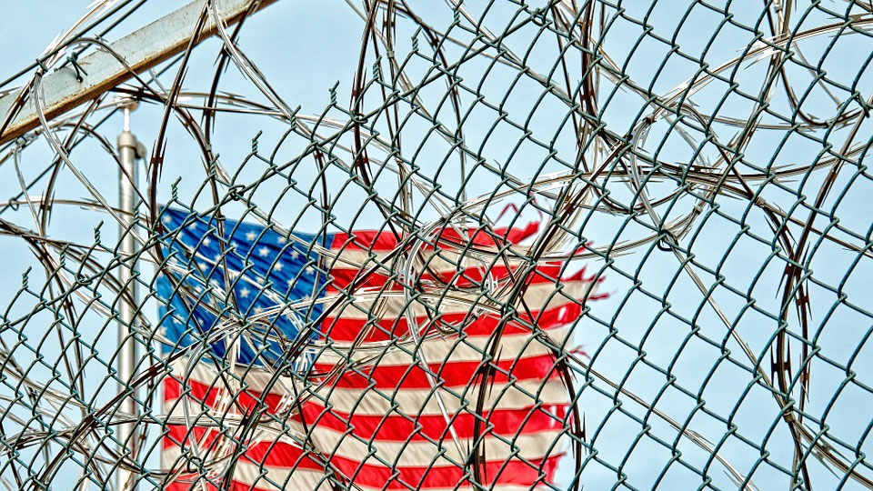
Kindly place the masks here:
<instances>
[{"instance_id":1,"label":"blue canton with white stars on the tattered American flag","mask_svg":"<svg viewBox=\"0 0 873 491\"><path fill-rule=\"evenodd\" d=\"M162 247L176 279L171 282L159 275L156 280L161 332L174 343L164 346L165 353L201 343L216 326L213 310L224 312L225 319L239 321L236 326L247 326L246 336L236 343L239 363L272 364L282 355L282 348L275 340L263 337L270 333L270 326L294 340L304 323L321 315L323 307L316 304L296 311L284 308L266 317L266 325L246 323L246 319L271 309L277 311L289 303L324 296L326 275L318 269L318 255L310 245L320 245L324 238L329 247L332 235L295 232L285 236L261 225L226 220L224 238L219 239L215 219L167 208L161 220L168 230L162 237ZM222 243L225 256L221 256ZM236 308L226 291L225 267ZM184 301L185 296L175 291L175 283L188 286L194 296ZM310 330L309 336L313 334ZM225 339L221 336L211 343L215 356L225 356ZM233 335L229 339L233 340Z\"/></svg>"}]
</instances>

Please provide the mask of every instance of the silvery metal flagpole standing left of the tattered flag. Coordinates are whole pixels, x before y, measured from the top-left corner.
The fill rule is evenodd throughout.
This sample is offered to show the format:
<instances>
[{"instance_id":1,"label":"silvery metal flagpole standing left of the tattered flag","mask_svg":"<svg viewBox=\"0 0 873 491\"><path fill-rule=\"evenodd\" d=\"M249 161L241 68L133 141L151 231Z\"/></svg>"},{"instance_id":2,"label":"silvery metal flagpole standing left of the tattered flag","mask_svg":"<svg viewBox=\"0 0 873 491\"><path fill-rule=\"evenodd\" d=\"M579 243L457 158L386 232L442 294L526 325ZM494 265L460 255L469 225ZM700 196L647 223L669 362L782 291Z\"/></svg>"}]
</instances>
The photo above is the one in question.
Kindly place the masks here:
<instances>
[{"instance_id":1,"label":"silvery metal flagpole standing left of the tattered flag","mask_svg":"<svg viewBox=\"0 0 873 491\"><path fill-rule=\"evenodd\" d=\"M136 108L132 102L125 106L125 126L118 135L118 156L121 166L118 169L118 209L123 224L118 225L118 254L130 258L135 254L134 209L136 205L135 185L137 181L136 159L145 156L145 147L139 143L130 132L130 113ZM129 295L130 301L124 299L118 305L118 390L124 393L128 390L128 382L134 376L136 363L136 340L134 338L135 306L138 304L137 288L134 280L135 261L129 259L126 265L119 268L118 279L122 288ZM135 392L125 397L119 410L126 415L136 414ZM118 427L119 450L122 455L130 449L130 456L135 457L133 449L136 442L136 424L125 423ZM135 480L130 471L118 469L115 489L128 491L135 488Z\"/></svg>"}]
</instances>

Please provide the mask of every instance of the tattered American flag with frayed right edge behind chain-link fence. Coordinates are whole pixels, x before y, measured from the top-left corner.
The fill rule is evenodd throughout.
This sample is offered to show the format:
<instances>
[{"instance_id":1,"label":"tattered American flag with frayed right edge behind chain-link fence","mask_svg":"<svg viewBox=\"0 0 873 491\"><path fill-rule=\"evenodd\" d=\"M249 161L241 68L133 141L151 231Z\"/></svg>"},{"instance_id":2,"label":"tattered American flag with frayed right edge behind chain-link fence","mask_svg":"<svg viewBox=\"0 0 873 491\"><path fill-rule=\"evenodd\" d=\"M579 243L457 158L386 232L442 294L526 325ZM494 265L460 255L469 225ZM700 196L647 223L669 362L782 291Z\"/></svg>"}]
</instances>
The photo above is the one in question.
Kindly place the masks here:
<instances>
[{"instance_id":1,"label":"tattered American flag with frayed right edge behind chain-link fence","mask_svg":"<svg viewBox=\"0 0 873 491\"><path fill-rule=\"evenodd\" d=\"M584 270L529 260L537 223L312 235L161 216L166 489L552 482L574 416L556 353L599 296Z\"/></svg>"}]
</instances>

